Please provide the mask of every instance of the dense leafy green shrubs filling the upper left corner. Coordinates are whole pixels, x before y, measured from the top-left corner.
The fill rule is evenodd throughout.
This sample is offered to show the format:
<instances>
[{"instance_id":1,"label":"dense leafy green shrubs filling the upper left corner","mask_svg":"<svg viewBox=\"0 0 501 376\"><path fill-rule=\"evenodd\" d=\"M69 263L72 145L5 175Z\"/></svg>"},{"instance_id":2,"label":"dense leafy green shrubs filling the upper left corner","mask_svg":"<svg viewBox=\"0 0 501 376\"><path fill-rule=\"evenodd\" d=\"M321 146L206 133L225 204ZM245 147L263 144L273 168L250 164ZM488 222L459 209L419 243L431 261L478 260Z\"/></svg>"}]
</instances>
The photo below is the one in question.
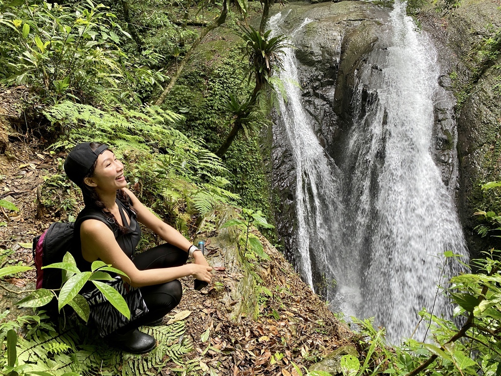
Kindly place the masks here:
<instances>
[{"instance_id":1,"label":"dense leafy green shrubs filling the upper left corner","mask_svg":"<svg viewBox=\"0 0 501 376\"><path fill-rule=\"evenodd\" d=\"M143 85L165 78L121 50L130 35L103 5L2 1L0 25L0 79L29 85L42 102L140 102Z\"/></svg>"}]
</instances>

